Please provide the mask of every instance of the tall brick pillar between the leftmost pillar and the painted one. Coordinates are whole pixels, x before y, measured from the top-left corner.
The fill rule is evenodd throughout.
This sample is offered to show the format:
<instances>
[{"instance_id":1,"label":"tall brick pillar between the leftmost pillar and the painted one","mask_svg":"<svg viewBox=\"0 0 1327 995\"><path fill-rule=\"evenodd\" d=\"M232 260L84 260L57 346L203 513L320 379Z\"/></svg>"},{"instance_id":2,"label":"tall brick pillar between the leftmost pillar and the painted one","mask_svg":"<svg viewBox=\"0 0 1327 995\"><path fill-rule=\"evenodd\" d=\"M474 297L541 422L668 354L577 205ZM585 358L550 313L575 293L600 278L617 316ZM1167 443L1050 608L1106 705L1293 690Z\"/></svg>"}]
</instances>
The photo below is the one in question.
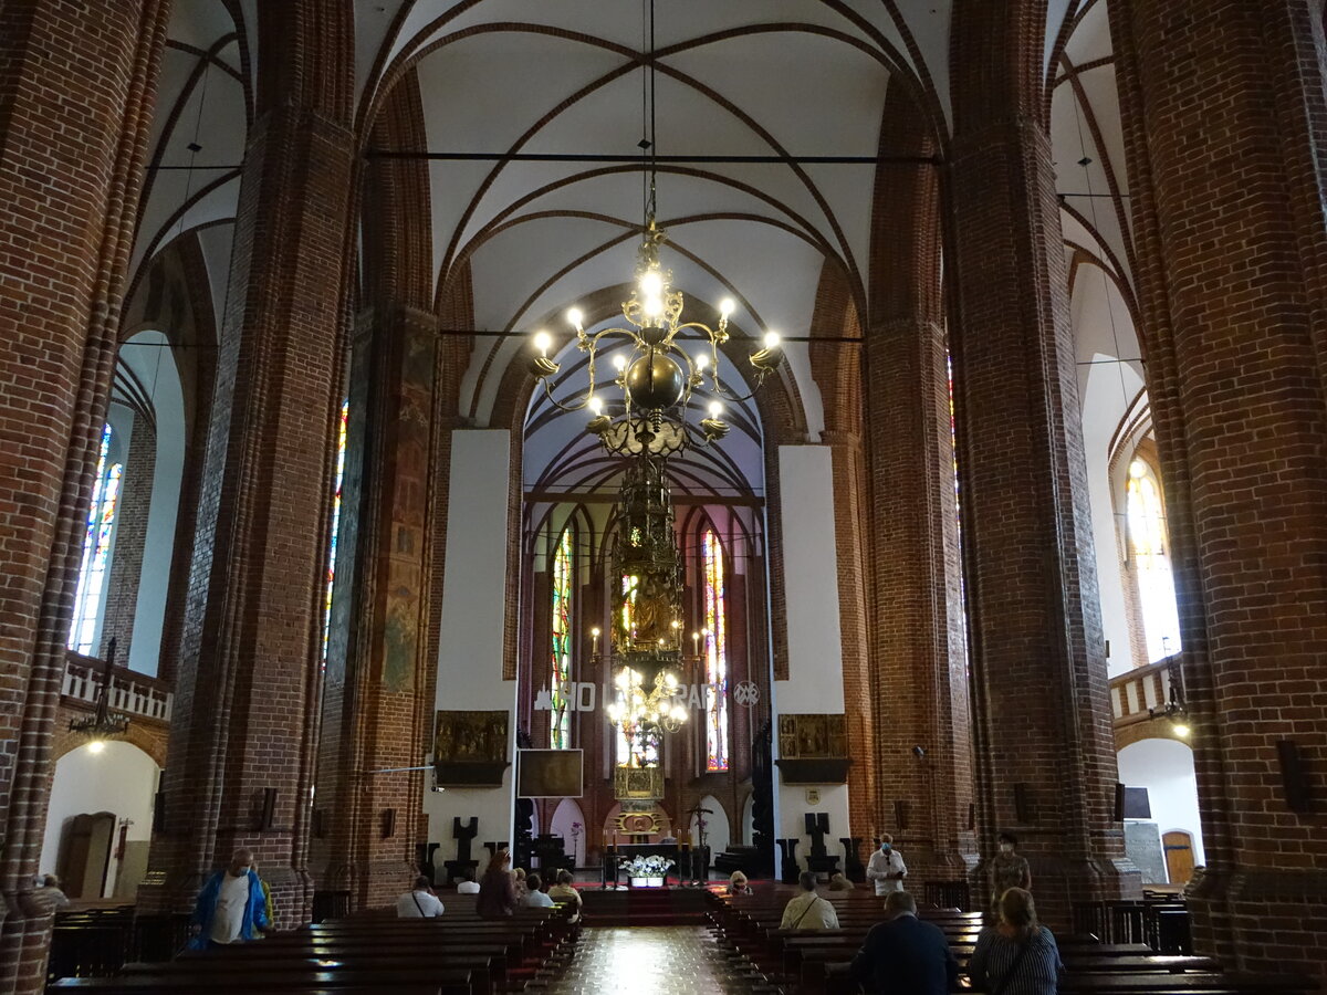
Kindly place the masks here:
<instances>
[{"instance_id":1,"label":"tall brick pillar between the leftmost pillar and the painted one","mask_svg":"<svg viewBox=\"0 0 1327 995\"><path fill-rule=\"evenodd\" d=\"M308 915L353 162L317 105L272 101L249 131L147 909L191 907L243 845L280 921Z\"/></svg>"}]
</instances>

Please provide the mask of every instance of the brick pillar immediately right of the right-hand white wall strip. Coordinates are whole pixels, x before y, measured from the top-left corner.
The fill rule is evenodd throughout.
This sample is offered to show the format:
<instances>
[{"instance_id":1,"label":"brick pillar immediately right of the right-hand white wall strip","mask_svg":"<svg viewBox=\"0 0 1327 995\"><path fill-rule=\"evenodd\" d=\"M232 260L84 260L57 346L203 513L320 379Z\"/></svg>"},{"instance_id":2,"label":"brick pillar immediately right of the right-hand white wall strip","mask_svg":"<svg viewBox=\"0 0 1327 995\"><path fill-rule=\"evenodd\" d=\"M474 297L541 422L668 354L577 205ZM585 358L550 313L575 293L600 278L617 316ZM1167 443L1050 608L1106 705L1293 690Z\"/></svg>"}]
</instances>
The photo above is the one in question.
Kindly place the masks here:
<instances>
[{"instance_id":1,"label":"brick pillar immediately right of the right-hand white wall strip","mask_svg":"<svg viewBox=\"0 0 1327 995\"><path fill-rule=\"evenodd\" d=\"M945 332L867 336L876 809L916 880L962 880L974 850L967 677ZM917 756L916 747L924 754Z\"/></svg>"}]
</instances>

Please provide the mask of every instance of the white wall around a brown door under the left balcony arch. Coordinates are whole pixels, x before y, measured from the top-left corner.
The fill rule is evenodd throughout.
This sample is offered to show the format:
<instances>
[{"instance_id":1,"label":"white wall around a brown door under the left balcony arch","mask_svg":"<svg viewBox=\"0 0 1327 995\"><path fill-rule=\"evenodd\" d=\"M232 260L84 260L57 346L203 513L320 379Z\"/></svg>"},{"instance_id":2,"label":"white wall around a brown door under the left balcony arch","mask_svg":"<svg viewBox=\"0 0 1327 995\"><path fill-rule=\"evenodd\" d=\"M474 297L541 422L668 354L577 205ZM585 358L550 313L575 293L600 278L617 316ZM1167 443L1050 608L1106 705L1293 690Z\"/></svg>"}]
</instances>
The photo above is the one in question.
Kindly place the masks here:
<instances>
[{"instance_id":1,"label":"white wall around a brown door under the left balcony arch","mask_svg":"<svg viewBox=\"0 0 1327 995\"><path fill-rule=\"evenodd\" d=\"M153 833L153 800L161 768L130 743L110 740L106 748L94 754L78 747L56 763L56 779L50 785L50 807L46 811L46 832L41 841L40 873L54 874L60 858L60 836L66 821L84 812L114 812L117 828L111 838L114 849L119 842L119 821L129 819L126 841L146 842ZM115 888L118 861L111 857L106 874L106 894Z\"/></svg>"}]
</instances>

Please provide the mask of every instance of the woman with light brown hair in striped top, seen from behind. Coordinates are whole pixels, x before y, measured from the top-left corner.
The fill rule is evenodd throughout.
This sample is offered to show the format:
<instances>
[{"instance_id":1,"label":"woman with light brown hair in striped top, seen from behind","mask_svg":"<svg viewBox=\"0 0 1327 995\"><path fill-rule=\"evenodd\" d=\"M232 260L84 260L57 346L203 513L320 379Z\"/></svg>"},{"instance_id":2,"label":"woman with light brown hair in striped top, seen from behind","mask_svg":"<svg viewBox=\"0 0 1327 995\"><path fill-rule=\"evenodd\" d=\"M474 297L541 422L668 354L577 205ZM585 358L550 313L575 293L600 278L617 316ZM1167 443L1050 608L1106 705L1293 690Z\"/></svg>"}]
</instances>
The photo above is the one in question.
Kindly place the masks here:
<instances>
[{"instance_id":1,"label":"woman with light brown hair in striped top, seen from behind","mask_svg":"<svg viewBox=\"0 0 1327 995\"><path fill-rule=\"evenodd\" d=\"M1055 937L1036 921L1031 893L1010 888L999 898L999 922L977 937L967 962L973 987L999 995L1055 995L1063 970Z\"/></svg>"}]
</instances>

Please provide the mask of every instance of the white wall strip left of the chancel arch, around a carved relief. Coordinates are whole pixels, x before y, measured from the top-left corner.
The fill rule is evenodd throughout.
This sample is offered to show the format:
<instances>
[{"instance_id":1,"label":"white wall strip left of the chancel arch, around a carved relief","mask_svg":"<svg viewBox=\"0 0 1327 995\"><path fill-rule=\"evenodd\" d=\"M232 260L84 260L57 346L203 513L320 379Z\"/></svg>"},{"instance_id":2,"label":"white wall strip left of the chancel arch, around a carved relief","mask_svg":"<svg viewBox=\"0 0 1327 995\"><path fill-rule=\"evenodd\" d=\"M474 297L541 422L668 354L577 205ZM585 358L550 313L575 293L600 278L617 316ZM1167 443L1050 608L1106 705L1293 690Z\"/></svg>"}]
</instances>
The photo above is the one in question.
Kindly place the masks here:
<instances>
[{"instance_id":1,"label":"white wall strip left of the chancel arch, around a carved relief","mask_svg":"<svg viewBox=\"0 0 1327 995\"><path fill-rule=\"evenodd\" d=\"M502 679L507 605L507 505L511 434L463 429L451 436L447 565L442 588L437 710L508 714L507 759L516 751L516 682ZM430 748L431 748L430 730ZM479 817L471 857L483 861L484 840L512 838L514 767L502 788L425 792L429 840L441 842L438 865L455 857L451 820ZM425 773L430 779L431 775Z\"/></svg>"}]
</instances>

